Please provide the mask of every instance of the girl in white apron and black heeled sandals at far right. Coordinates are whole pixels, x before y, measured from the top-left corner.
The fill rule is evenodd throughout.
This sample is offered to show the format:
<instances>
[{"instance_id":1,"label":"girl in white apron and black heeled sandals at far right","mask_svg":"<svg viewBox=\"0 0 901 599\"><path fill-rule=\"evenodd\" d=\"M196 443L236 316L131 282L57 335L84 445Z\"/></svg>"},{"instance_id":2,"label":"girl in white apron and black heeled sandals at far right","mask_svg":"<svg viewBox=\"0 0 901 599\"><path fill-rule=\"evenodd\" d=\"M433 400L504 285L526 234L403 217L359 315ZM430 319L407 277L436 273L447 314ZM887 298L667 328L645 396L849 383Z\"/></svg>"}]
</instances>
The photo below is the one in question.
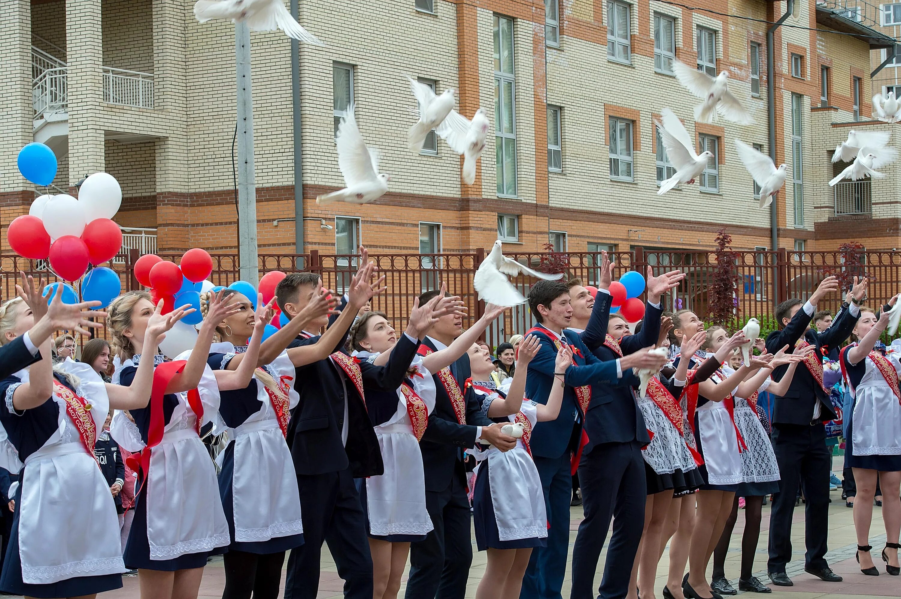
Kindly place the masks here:
<instances>
[{"instance_id":1,"label":"girl in white apron and black heeled sandals at far right","mask_svg":"<svg viewBox=\"0 0 901 599\"><path fill-rule=\"evenodd\" d=\"M893 306L897 298L889 305ZM888 325L887 308L878 317L869 308L860 308L860 319L852 338L858 340L840 355L842 375L851 390L854 404L845 412L849 420L846 435L846 463L854 470L857 500L854 502L854 528L857 532L857 559L860 570L877 576L878 569L869 555L869 523L873 517L873 496L877 480L882 489L882 514L886 523L886 547L882 560L886 571L898 576L898 522L901 522L901 390L897 353L882 355L873 347Z\"/></svg>"}]
</instances>

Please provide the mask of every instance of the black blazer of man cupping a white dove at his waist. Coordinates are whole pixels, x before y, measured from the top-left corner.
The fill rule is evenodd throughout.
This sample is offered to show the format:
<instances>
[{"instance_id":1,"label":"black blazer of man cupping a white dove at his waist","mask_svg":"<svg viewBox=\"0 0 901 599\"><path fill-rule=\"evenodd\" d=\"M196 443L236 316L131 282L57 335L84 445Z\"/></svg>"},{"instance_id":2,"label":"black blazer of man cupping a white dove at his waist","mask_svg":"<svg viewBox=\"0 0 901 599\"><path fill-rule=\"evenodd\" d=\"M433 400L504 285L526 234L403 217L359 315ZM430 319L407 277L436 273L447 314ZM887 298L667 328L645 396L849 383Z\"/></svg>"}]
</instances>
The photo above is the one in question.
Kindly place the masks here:
<instances>
[{"instance_id":1,"label":"black blazer of man cupping a white dove at his waist","mask_svg":"<svg viewBox=\"0 0 901 599\"><path fill-rule=\"evenodd\" d=\"M437 348L428 338L423 339L423 345L435 351ZM454 362L454 370L457 371L457 384L469 379L469 356L463 354L457 362ZM423 466L425 467L425 490L443 491L450 484L452 478L457 476L465 478L465 470L457 469L457 462L462 466L463 451L472 447L476 439L477 426L490 426L494 423L482 414L482 406L475 398L474 393L463 394L466 403L466 424L457 422L457 414L453 411L451 398L448 397L444 385L438 378L438 374L432 374L435 381L435 407L429 414L429 425L425 429L419 449L423 452ZM471 400L471 401L470 401Z\"/></svg>"}]
</instances>

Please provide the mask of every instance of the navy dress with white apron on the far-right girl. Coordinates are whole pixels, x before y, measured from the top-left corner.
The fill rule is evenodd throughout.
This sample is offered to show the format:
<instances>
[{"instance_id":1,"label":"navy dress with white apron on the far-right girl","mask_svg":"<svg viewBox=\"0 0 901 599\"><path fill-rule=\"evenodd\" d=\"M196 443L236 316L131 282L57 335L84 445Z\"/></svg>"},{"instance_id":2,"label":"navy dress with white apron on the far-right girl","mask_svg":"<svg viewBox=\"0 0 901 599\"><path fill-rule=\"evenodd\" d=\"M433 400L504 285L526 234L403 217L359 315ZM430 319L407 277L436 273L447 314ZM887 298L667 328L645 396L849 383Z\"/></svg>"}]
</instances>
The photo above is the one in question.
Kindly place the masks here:
<instances>
[{"instance_id":1,"label":"navy dress with white apron on the far-right girl","mask_svg":"<svg viewBox=\"0 0 901 599\"><path fill-rule=\"evenodd\" d=\"M847 465L883 472L901 470L901 363L897 354L870 352L851 364L847 350L842 350L842 372L854 401L850 416L846 416Z\"/></svg>"}]
</instances>

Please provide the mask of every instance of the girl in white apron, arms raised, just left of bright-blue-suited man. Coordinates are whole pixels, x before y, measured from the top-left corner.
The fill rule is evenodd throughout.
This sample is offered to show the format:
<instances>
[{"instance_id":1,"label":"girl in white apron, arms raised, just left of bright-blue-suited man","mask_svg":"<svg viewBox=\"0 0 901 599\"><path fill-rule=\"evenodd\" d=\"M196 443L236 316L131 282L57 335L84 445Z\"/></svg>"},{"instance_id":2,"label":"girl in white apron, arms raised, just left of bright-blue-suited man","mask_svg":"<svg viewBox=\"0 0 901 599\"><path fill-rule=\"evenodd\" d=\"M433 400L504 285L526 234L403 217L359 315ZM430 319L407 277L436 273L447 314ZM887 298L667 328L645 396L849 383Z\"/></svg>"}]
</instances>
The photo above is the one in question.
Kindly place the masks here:
<instances>
[{"instance_id":1,"label":"girl in white apron, arms raised, just left of bright-blue-suited man","mask_svg":"<svg viewBox=\"0 0 901 599\"><path fill-rule=\"evenodd\" d=\"M516 372L506 396L491 380L494 371L491 355L476 344L468 352L472 378L466 381L466 393L478 396L482 412L489 418L522 429L522 436L510 451L492 446L477 451L472 511L476 545L479 551L487 550L488 559L476 599L518 597L532 548L547 545L548 519L542 481L532 460L529 440L536 423L554 420L560 414L563 377L554 377L547 405L523 398L528 365L540 347L532 335L519 344ZM561 345L554 371L564 372L571 363L572 351L568 345Z\"/></svg>"}]
</instances>

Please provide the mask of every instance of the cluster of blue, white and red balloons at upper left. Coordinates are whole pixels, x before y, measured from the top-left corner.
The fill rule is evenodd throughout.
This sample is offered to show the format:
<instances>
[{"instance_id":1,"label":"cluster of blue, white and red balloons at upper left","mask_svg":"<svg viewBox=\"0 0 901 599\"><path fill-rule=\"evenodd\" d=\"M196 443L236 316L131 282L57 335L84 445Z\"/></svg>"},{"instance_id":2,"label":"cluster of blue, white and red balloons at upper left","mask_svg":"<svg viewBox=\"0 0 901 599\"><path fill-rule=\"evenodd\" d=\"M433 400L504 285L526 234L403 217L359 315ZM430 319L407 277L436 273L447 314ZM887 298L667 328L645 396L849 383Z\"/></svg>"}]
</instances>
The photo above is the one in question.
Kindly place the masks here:
<instances>
[{"instance_id":1,"label":"cluster of blue, white and red balloons at upper left","mask_svg":"<svg viewBox=\"0 0 901 599\"><path fill-rule=\"evenodd\" d=\"M49 185L57 172L53 151L39 143L19 152L19 172L38 185ZM50 268L66 281L76 281L88 264L112 260L122 247L122 229L112 220L122 204L122 188L114 176L95 173L85 179L78 198L44 194L28 214L14 219L6 231L13 251L32 260L50 260Z\"/></svg>"}]
</instances>

